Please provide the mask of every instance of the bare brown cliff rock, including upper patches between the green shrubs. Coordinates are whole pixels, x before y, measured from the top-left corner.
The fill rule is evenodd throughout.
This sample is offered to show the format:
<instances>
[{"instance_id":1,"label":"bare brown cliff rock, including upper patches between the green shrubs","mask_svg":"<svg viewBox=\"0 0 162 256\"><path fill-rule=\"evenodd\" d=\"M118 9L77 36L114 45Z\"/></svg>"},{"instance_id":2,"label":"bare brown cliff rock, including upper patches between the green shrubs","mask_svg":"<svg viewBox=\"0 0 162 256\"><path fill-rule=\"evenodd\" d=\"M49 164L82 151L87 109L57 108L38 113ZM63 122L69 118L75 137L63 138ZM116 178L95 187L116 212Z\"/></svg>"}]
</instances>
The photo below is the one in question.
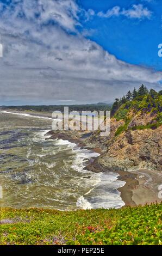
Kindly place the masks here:
<instances>
[{"instance_id":1,"label":"bare brown cliff rock, including upper patches between the green shrubs","mask_svg":"<svg viewBox=\"0 0 162 256\"><path fill-rule=\"evenodd\" d=\"M86 140L104 150L98 157L98 163L108 170L162 170L162 126L157 129L133 130L133 127L139 125L153 124L156 113L129 111L127 117L129 124L120 135L116 136L116 131L126 121L112 118L109 137L101 137L95 132Z\"/></svg>"}]
</instances>

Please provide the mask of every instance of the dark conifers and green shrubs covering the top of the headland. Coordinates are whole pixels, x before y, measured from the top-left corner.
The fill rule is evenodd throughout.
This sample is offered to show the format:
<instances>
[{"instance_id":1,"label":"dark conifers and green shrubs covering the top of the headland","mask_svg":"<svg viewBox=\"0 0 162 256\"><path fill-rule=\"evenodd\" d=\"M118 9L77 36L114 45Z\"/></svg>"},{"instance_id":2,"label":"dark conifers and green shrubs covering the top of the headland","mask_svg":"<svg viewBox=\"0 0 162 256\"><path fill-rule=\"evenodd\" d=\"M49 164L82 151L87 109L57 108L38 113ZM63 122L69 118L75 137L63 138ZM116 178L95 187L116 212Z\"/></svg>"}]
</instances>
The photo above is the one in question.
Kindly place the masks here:
<instances>
[{"instance_id":1,"label":"dark conifers and green shrubs covering the top of the headland","mask_svg":"<svg viewBox=\"0 0 162 256\"><path fill-rule=\"evenodd\" d=\"M129 130L144 130L144 129L157 129L162 124L162 95L155 92L154 89L148 91L148 89L142 84L139 90L134 88L131 93L128 91L126 97L123 96L120 100L115 99L112 107L111 116L117 121L124 120L124 125L120 126L115 136L120 135L123 131L128 130L129 123L131 121L130 111L132 111L132 117L135 114L152 114L155 118L151 119L151 122L146 125L134 126ZM112 114L113 113L113 114Z\"/></svg>"}]
</instances>

